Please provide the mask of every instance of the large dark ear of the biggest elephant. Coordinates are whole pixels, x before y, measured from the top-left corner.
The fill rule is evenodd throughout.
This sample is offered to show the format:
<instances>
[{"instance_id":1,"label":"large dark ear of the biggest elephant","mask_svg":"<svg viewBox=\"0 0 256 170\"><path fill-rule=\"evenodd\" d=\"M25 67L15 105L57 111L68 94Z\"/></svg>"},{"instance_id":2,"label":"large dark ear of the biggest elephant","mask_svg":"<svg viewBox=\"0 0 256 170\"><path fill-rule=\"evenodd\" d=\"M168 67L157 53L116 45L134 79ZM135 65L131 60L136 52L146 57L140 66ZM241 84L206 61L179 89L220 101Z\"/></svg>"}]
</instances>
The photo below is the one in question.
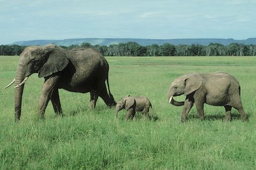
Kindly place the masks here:
<instances>
[{"instance_id":1,"label":"large dark ear of the biggest elephant","mask_svg":"<svg viewBox=\"0 0 256 170\"><path fill-rule=\"evenodd\" d=\"M48 60L40 68L38 77L46 77L59 72L66 68L68 62L69 60L63 51L53 50L50 52Z\"/></svg>"}]
</instances>

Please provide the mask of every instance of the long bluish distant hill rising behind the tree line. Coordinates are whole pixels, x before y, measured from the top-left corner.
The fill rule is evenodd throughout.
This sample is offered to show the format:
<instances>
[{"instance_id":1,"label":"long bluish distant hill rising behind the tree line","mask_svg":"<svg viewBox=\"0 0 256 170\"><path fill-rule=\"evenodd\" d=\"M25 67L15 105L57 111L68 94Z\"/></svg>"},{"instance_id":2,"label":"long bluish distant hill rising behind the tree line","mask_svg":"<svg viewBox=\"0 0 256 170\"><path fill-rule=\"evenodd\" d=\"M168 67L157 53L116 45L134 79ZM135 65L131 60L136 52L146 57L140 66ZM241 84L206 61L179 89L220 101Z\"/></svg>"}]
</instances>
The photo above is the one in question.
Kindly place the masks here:
<instances>
[{"instance_id":1,"label":"long bluish distant hill rising behind the tree line","mask_svg":"<svg viewBox=\"0 0 256 170\"><path fill-rule=\"evenodd\" d=\"M173 45L185 44L201 44L209 45L210 43L219 43L223 45L229 45L231 43L239 43L245 45L256 45L256 38L248 38L246 40L234 40L234 39L130 39L130 38L80 38L80 39L65 39L65 40L30 40L30 41L17 41L12 43L16 45L45 45L45 44L56 44L56 45L80 45L82 43L90 43L92 45L110 45L110 44L119 44L127 43L128 41L136 42L140 45L152 45L158 44L162 45L165 43L170 43Z\"/></svg>"}]
</instances>

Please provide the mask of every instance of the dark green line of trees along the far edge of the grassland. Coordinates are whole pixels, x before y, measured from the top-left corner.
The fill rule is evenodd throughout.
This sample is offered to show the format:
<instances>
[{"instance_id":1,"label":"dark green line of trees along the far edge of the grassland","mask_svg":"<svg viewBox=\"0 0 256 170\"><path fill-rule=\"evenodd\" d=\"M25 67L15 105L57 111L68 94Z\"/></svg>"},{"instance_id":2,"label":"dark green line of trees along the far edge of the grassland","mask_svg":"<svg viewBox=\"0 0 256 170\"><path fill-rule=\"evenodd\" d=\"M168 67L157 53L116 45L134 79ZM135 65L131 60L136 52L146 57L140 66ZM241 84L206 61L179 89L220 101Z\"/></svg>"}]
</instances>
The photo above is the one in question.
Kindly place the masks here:
<instances>
[{"instance_id":1,"label":"dark green line of trees along the far edge of the grassland","mask_svg":"<svg viewBox=\"0 0 256 170\"><path fill-rule=\"evenodd\" d=\"M210 45L172 45L152 44L142 46L135 42L106 45L91 45L83 43L82 47L92 47L100 51L104 56L256 56L256 45L244 45L232 43L222 45L211 43ZM61 46L62 48L72 49L79 45ZM0 55L13 56L20 55L26 46L1 45Z\"/></svg>"}]
</instances>

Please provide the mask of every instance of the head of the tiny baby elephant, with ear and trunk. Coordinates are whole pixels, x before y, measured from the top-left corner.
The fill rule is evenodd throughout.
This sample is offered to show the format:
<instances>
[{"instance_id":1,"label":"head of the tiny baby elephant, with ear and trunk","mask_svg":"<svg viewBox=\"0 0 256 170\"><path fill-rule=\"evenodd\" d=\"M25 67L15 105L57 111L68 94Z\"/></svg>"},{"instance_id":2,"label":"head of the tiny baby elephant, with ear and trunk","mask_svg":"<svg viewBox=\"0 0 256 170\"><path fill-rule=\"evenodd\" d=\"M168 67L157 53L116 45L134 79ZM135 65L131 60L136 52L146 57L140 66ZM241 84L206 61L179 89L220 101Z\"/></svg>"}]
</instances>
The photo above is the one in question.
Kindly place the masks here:
<instances>
[{"instance_id":1,"label":"head of the tiny baby elephant, with ear and trunk","mask_svg":"<svg viewBox=\"0 0 256 170\"><path fill-rule=\"evenodd\" d=\"M123 110L124 108L125 110L129 110L129 108L131 108L134 104L135 104L135 99L132 98L130 95L125 96L123 99L120 99L117 102L117 105L115 106L116 116L118 117L118 112L120 110Z\"/></svg>"}]
</instances>

